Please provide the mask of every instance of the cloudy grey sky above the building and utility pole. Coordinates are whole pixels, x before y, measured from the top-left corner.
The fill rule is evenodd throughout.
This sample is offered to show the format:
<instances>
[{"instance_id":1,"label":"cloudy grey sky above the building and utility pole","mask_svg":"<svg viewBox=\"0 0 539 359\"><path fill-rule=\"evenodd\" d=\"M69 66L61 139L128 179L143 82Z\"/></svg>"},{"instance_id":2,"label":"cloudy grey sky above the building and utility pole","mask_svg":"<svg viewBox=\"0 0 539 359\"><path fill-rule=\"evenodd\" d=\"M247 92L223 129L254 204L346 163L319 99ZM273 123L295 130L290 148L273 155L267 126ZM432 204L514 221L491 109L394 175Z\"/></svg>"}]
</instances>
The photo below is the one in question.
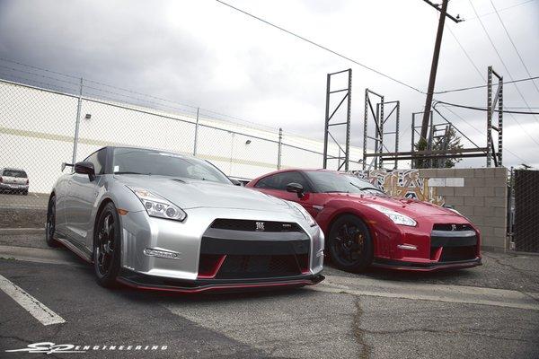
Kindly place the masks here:
<instances>
[{"instance_id":1,"label":"cloudy grey sky above the building and utility pole","mask_svg":"<svg viewBox=\"0 0 539 359\"><path fill-rule=\"evenodd\" d=\"M225 1L427 89L438 14L421 0ZM490 65L505 81L539 75L539 0L452 0L449 13L466 21L446 22L436 91L484 84ZM411 112L425 101L420 92L214 0L0 0L0 58L0 76L23 77L4 61L11 60L315 138L323 138L326 74L352 68L352 144L358 146L365 88L401 101L402 149L410 147ZM539 79L517 86L504 87L506 108L539 112ZM436 98L479 107L487 102L485 89ZM486 113L439 109L474 142L486 144ZM505 165L539 167L539 116L506 114L504 146ZM483 159L460 163L481 165Z\"/></svg>"}]
</instances>

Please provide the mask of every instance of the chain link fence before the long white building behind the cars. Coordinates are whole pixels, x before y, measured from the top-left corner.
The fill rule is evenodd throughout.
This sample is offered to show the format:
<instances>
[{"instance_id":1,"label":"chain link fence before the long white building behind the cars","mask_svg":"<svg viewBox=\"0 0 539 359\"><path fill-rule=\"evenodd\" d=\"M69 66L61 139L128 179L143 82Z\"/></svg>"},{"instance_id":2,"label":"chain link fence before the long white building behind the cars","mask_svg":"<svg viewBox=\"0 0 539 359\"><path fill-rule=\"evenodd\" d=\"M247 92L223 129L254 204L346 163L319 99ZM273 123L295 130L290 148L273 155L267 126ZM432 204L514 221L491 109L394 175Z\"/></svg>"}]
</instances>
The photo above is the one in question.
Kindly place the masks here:
<instances>
[{"instance_id":1,"label":"chain link fence before the long white building behind the cars","mask_svg":"<svg viewBox=\"0 0 539 359\"><path fill-rule=\"evenodd\" d=\"M51 90L0 79L0 169L26 175L4 176L0 208L45 208L61 163L82 161L105 145L194 154L243 180L323 163L322 141L223 120L210 110L181 108L137 92L111 91L91 81L65 83L71 87Z\"/></svg>"}]
</instances>

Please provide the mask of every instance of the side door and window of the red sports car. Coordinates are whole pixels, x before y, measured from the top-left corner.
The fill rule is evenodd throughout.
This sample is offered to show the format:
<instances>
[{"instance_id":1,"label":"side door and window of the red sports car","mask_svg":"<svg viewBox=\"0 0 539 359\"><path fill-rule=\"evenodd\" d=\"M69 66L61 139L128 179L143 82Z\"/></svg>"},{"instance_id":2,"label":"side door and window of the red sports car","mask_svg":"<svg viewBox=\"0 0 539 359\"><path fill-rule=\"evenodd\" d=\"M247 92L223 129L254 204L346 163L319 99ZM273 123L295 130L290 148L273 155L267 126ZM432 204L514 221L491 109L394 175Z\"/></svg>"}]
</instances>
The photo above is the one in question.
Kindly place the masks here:
<instances>
[{"instance_id":1,"label":"side door and window of the red sports car","mask_svg":"<svg viewBox=\"0 0 539 359\"><path fill-rule=\"evenodd\" d=\"M287 185L289 183L299 183L302 185L304 188L304 196L300 198L297 197L296 193L287 192ZM318 214L314 202L316 194L313 193L311 184L300 171L284 171L264 177L254 185L254 188L257 188L270 196L299 203L301 206L304 206L307 212L314 218L316 218L316 215Z\"/></svg>"}]
</instances>

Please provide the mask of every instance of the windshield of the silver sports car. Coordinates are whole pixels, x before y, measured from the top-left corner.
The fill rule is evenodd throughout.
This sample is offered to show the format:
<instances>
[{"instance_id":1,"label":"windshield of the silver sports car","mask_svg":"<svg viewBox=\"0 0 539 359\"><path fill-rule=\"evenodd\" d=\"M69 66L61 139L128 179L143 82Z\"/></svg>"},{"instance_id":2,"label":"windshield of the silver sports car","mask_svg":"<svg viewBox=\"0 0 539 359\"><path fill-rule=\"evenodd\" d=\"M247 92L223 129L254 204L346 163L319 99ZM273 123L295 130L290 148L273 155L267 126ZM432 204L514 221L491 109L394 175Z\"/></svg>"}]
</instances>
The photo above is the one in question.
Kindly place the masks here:
<instances>
[{"instance_id":1,"label":"windshield of the silver sports car","mask_svg":"<svg viewBox=\"0 0 539 359\"><path fill-rule=\"evenodd\" d=\"M115 148L112 166L116 174L158 175L232 183L223 172L209 162L156 150Z\"/></svg>"}]
</instances>

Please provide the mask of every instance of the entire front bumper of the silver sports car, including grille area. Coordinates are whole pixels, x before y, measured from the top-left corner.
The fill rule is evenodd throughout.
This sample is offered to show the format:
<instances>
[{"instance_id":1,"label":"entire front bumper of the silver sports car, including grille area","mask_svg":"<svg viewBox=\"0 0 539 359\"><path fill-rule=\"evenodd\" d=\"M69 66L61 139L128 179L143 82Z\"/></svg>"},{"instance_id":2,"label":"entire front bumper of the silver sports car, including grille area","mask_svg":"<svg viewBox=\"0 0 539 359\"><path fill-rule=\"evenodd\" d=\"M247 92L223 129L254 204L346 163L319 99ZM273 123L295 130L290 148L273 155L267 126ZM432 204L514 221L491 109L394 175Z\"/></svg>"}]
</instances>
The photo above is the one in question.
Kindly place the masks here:
<instances>
[{"instance_id":1,"label":"entire front bumper of the silver sports car, including grille area","mask_svg":"<svg viewBox=\"0 0 539 359\"><path fill-rule=\"evenodd\" d=\"M121 267L127 273L119 276L120 282L174 292L318 283L324 241L318 226L297 221L301 231L270 232L270 223L290 223L294 218L287 213L231 208L192 208L186 212L183 223L149 217L145 211L120 217ZM222 218L240 223L264 221L267 231L213 228ZM148 249L171 252L174 258L149 256Z\"/></svg>"}]
</instances>

